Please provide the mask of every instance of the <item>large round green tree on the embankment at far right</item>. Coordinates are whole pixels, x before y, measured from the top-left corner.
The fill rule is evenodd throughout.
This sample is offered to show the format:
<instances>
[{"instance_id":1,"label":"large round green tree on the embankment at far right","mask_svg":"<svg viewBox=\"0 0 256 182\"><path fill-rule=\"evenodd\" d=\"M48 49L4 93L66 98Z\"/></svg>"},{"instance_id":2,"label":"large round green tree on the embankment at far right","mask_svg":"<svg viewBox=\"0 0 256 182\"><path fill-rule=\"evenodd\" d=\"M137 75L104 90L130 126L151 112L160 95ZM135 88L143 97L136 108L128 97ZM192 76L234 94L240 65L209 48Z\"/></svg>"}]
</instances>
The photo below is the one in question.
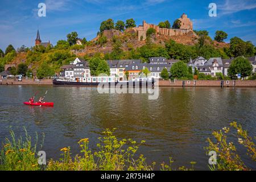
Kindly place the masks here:
<instances>
[{"instance_id":1,"label":"large round green tree on the embankment at far right","mask_svg":"<svg viewBox=\"0 0 256 182\"><path fill-rule=\"evenodd\" d=\"M228 76L234 77L241 73L241 77L250 76L253 72L253 66L250 61L243 56L236 57L228 69Z\"/></svg>"}]
</instances>

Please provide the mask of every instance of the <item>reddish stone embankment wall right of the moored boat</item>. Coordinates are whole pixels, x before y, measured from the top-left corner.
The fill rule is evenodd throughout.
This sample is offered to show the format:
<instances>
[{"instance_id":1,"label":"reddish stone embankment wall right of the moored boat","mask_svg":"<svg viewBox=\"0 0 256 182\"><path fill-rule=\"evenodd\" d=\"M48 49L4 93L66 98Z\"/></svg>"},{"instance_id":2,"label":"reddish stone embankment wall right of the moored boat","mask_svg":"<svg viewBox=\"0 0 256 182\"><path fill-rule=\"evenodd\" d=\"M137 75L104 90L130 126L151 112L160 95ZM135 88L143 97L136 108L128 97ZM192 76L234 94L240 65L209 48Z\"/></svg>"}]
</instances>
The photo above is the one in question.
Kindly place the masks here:
<instances>
[{"instance_id":1,"label":"reddish stone embankment wall right of the moored boat","mask_svg":"<svg viewBox=\"0 0 256 182\"><path fill-rule=\"evenodd\" d=\"M159 80L159 86L256 88L256 80Z\"/></svg>"}]
</instances>

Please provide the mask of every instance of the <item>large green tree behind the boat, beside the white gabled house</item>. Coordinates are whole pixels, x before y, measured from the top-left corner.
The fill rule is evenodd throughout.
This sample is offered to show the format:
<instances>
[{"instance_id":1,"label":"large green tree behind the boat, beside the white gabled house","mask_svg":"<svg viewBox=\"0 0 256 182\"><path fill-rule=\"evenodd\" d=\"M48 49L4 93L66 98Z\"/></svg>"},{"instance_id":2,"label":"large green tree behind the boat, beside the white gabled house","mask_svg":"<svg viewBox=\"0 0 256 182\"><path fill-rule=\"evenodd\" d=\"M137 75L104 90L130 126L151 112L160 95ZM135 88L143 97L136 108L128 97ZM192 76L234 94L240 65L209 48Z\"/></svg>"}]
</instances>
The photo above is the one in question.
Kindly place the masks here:
<instances>
[{"instance_id":1,"label":"large green tree behind the boat, beside the white gabled house","mask_svg":"<svg viewBox=\"0 0 256 182\"><path fill-rule=\"evenodd\" d=\"M98 76L101 73L110 75L110 68L105 60L101 60L100 57L93 57L89 60L90 75Z\"/></svg>"}]
</instances>

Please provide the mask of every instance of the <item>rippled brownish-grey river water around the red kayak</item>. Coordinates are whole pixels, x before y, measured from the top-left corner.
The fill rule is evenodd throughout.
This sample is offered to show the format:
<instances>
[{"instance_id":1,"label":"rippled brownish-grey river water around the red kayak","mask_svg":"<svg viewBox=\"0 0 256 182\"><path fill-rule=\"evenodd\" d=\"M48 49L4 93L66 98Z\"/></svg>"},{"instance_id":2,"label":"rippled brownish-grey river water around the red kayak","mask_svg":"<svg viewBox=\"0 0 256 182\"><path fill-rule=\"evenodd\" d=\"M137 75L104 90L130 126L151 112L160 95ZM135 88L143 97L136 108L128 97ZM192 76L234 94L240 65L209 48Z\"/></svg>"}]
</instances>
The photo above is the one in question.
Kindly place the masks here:
<instances>
[{"instance_id":1,"label":"rippled brownish-grey river water around the red kayak","mask_svg":"<svg viewBox=\"0 0 256 182\"><path fill-rule=\"evenodd\" d=\"M22 104L46 90L46 101L55 102L54 107ZM148 100L147 94L100 94L97 88L0 86L0 142L10 137L10 129L16 135L24 135L23 127L32 136L44 133L47 159L59 158L65 146L79 153L81 138L89 138L94 150L102 131L117 128L119 139L146 140L138 154L156 162L156 169L171 156L175 168L195 161L196 169L207 170L207 138L232 121L255 136L255 88L160 88L159 98ZM256 169L243 148L238 152Z\"/></svg>"}]
</instances>

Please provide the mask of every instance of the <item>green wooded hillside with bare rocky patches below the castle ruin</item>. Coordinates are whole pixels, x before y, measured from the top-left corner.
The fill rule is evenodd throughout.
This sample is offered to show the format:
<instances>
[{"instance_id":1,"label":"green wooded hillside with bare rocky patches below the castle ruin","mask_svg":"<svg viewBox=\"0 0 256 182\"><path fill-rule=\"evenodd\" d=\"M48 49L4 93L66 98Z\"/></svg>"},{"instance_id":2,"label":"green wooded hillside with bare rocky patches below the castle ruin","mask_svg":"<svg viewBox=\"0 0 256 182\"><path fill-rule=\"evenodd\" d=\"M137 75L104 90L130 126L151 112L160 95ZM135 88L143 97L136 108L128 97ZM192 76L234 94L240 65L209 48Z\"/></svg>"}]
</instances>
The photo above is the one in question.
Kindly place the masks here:
<instances>
[{"instance_id":1,"label":"green wooded hillside with bare rocky patches below the castle ruin","mask_svg":"<svg viewBox=\"0 0 256 182\"><path fill-rule=\"evenodd\" d=\"M10 45L5 52L0 49L0 71L3 71L5 64L14 63L17 65L11 70L14 74L48 77L59 73L62 65L69 64L76 57L85 60L93 57L102 60L141 59L146 62L150 57L163 56L188 63L197 56L226 59L253 56L256 52L251 42L244 42L237 37L230 39L230 44L224 43L227 34L222 31L216 31L212 40L208 31L170 37L156 35L153 28L149 28L146 40L139 41L136 32L132 30L133 20L126 21L124 25L122 22L117 23L113 27L111 21L102 22L97 37L89 42L82 39L82 45L76 44L78 34L71 32L67 35L67 40L59 40L54 47L22 46L15 51ZM19 64L22 64L22 69L18 69Z\"/></svg>"}]
</instances>

